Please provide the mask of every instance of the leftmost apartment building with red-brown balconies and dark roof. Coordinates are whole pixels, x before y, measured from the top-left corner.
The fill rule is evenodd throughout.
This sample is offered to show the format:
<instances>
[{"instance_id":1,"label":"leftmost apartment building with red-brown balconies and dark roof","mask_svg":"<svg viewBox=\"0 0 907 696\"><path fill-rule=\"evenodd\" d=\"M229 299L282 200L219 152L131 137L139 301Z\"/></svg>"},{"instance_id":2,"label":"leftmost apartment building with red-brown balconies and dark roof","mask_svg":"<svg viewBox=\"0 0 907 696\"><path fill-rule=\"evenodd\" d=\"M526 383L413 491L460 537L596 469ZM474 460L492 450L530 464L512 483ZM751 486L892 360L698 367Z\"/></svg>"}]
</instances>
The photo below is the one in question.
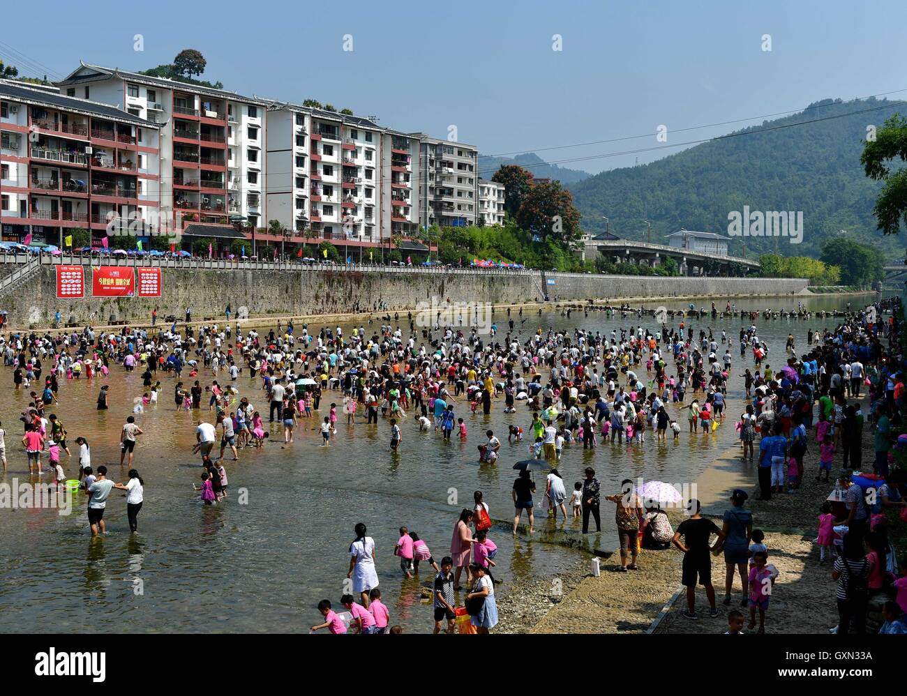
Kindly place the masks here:
<instances>
[{"instance_id":1,"label":"leftmost apartment building with red-brown balconies and dark roof","mask_svg":"<svg viewBox=\"0 0 907 696\"><path fill-rule=\"evenodd\" d=\"M59 247L67 230L101 243L109 219L157 225L160 125L105 103L0 80L4 241ZM151 215L151 211L155 215Z\"/></svg>"}]
</instances>

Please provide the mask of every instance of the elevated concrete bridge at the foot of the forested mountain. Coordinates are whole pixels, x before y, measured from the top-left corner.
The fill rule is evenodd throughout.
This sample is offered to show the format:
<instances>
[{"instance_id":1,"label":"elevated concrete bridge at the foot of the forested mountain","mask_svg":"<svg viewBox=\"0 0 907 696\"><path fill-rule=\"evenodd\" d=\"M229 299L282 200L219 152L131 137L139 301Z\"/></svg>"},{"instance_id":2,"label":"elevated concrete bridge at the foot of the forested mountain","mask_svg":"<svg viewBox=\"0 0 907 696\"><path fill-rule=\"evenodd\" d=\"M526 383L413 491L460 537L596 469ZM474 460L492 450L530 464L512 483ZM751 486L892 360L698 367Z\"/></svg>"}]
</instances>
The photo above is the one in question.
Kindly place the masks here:
<instances>
[{"instance_id":1,"label":"elevated concrete bridge at the foot of the forested mountain","mask_svg":"<svg viewBox=\"0 0 907 696\"><path fill-rule=\"evenodd\" d=\"M636 242L614 237L583 239L583 260L594 260L597 256L604 256L617 264L633 263L652 267L660 266L666 258L673 258L681 275L706 275L707 267L713 270L710 275L748 275L762 270L762 265L758 261L743 256L706 254L693 249L669 247L666 244ZM720 274L714 273L716 264L721 269ZM904 271L907 272L907 266L904 266Z\"/></svg>"}]
</instances>

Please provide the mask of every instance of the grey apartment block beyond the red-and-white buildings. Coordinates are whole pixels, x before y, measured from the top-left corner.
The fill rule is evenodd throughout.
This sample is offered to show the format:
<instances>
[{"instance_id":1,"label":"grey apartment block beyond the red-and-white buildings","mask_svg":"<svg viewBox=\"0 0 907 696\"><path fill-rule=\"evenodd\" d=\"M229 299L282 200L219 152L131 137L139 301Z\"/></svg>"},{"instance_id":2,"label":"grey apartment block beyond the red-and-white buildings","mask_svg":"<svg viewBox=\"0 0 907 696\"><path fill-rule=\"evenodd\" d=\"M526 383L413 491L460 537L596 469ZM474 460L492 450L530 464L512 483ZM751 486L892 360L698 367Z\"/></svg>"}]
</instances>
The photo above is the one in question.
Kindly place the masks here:
<instances>
[{"instance_id":1,"label":"grey apartment block beyond the red-and-white buildings","mask_svg":"<svg viewBox=\"0 0 907 696\"><path fill-rule=\"evenodd\" d=\"M479 149L424 133L419 169L419 220L424 227L474 225L479 207Z\"/></svg>"}]
</instances>

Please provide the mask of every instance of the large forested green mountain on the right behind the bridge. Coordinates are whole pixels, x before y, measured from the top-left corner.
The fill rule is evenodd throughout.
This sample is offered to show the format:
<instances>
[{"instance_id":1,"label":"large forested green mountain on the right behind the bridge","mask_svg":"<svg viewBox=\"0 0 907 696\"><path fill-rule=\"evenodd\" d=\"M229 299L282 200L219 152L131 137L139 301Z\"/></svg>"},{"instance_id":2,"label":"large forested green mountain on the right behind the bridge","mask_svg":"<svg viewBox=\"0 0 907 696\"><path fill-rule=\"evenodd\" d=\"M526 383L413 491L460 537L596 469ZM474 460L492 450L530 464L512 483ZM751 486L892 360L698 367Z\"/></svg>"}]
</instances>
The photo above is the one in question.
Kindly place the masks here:
<instances>
[{"instance_id":1,"label":"large forested green mountain on the right behind the bridge","mask_svg":"<svg viewBox=\"0 0 907 696\"><path fill-rule=\"evenodd\" d=\"M803 240L733 237L730 253L776 252L818 256L824 239L846 235L872 242L887 256L902 254L902 240L883 237L873 218L881 183L867 179L860 154L867 126L881 128L907 102L827 99L791 116L735 131L649 164L612 169L571 184L582 228L598 234L610 218L612 234L652 242L682 227L728 235L729 215L750 211L803 211ZM815 121L815 122L807 122ZM801 125L796 125L801 124ZM690 139L695 136L690 136Z\"/></svg>"}]
</instances>

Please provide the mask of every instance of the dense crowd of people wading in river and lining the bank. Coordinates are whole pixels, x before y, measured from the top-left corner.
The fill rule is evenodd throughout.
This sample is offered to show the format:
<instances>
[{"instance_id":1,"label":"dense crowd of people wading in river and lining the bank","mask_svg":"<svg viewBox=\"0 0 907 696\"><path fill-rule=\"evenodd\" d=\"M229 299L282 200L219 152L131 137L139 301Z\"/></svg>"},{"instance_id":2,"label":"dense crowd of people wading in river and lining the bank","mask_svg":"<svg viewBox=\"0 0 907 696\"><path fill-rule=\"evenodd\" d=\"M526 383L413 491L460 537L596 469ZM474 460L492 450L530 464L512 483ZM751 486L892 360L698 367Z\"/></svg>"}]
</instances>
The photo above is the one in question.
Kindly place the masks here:
<instances>
[{"instance_id":1,"label":"dense crowd of people wading in river and lining the bank","mask_svg":"<svg viewBox=\"0 0 907 696\"><path fill-rule=\"evenodd\" d=\"M897 307L883 303L876 309L882 312ZM572 311L565 309L564 313ZM809 319L815 314L799 306L790 312L746 314L744 318L751 324L729 336L713 333L707 325L710 317L719 314L740 315L734 314L736 307L729 303L724 313L715 304L711 310L691 307L683 316L674 315L674 321L658 317L662 324L649 327L644 326L649 323L649 314L642 309L604 311L622 318L635 316L639 324L615 329L610 335L580 328L554 331L541 327L524 333L530 317L523 317L520 309L514 313L508 310L502 325L493 323L488 334L471 330L471 317L463 317L458 326L424 327L417 326L412 315L406 317L408 331L405 324L401 326L402 317L395 316L392 323L387 316L385 324L370 323L367 329L366 324L360 324L347 332L339 326L310 332L307 325L299 328L290 320L258 333L243 332L239 324L234 328L229 324L229 314L225 314L225 324L198 330L187 327L180 331L172 322L156 331L124 327L117 333L95 333L85 328L70 333L13 334L2 350L5 364L13 371L15 389L30 391L29 408L22 416L30 472L34 467L34 474L41 475L44 457L58 462L61 451L70 454L63 423L51 412L62 383L71 379L104 382L111 370L135 371L141 373L141 396L111 395L108 385L102 383L97 408L107 409L108 400L114 399L131 401L136 415L154 410L190 410L196 414L195 449L204 468L200 501L206 505L227 498L224 455L228 451L237 460L244 447L263 449L268 438L278 439L280 435L286 445L291 445L300 424L317 423L315 428L327 447L343 446L338 424L383 430L390 456L405 457L408 438L432 437L434 432L444 440L466 439L470 437L466 424L469 415L487 414L493 409L514 413L514 420L522 420L525 430L521 425L511 426L507 439L525 440L528 458L537 462L527 467L547 472L544 491L534 489L527 473L516 479L512 490L514 534L524 513L529 533L533 533L533 493L541 496L541 504L555 519L560 512L563 522L568 515L581 518L583 533L590 530L593 520L600 529L602 493L594 469L587 469L583 481L565 485L557 468L563 449L578 448L580 443L583 449L605 444L646 448L647 430L654 430L656 441L678 438L682 432L686 432L684 437L707 438L707 433L722 424L734 423L745 458L754 457L754 443L759 438L761 498L768 500L783 490L795 491L807 475L800 450L814 437L813 431L818 434L822 430L817 447L831 449L830 462L840 457L844 466L859 466L858 429L865 418L857 401L861 388L871 391L869 417L883 432L892 427L892 420L898 420L896 411L903 399L898 391L902 392L904 386L902 365L895 361L897 353L892 351L900 338L893 316L888 323L873 323L866 312L845 313L841 323L830 331L817 332L807 325L806 353L797 355L792 334L785 355L773 356L769 362L768 345L760 340L756 321ZM589 312L585 307L584 313ZM887 347L883 346L885 340ZM752 368L744 366L748 360L753 361ZM742 374L733 372L735 362ZM783 365L780 370L773 369L772 362ZM727 413L727 382L731 378L744 380L746 396L751 400L739 419ZM172 390L170 408L166 398L160 399L164 384L166 390ZM260 409L256 402L261 404ZM687 420L686 428L678 420ZM130 469L128 483L122 486L106 477L104 467L93 473L84 433L75 440L79 446L79 479L84 479L89 493L89 521L95 534L103 534L103 509L114 487L129 490L130 527L136 529L142 480L132 469L132 462L141 435L133 417L123 424L121 466ZM503 437L503 433L486 430L477 440L476 458L483 466L497 465ZM874 459L881 476L889 473L891 448L884 449L886 441L890 443L887 435L878 440ZM57 472L56 464L53 469L62 483L62 472ZM632 481L625 484L632 486ZM888 502L883 501L883 505L898 502L901 484L896 477L889 482ZM850 506L847 521L851 532L847 536L862 537L863 527L869 526L862 520L869 513L863 515L859 501L850 499L856 496L853 487L845 495ZM697 580L710 586L702 543L704 530L714 531L704 524L708 520L699 523L692 517L688 522L695 524L685 522L686 527L681 525L674 534L669 523L666 526L667 516L661 509L662 503L674 501L637 498L629 488L605 498L616 506L620 571L640 568L641 536L644 548L664 548L673 542L685 554L685 584L692 577L688 586L697 585ZM746 566L761 549L750 548L754 540L750 532L746 532L746 544L741 544L746 525L737 527L740 525L718 530L718 536L724 539L729 566L740 572L743 594L747 603L753 603L754 616L756 611L764 614L766 602L748 590L753 586L753 571ZM835 533L840 535L841 529ZM433 566L430 598L435 632L453 630L458 609L461 615L465 610L472 617L470 623L480 633L496 625L493 534L490 510L481 491L476 491L474 506L464 508L456 520L449 556L445 549L445 555L435 559L423 539L405 531L405 527L400 530L395 556L400 558L401 572L412 574L420 560ZM708 535L705 537L707 543ZM721 544L713 544L713 550L719 550ZM346 611L337 614L326 600L327 605L319 605L325 622L318 627L334 633L342 633L349 626L363 633L389 630L389 617L381 609L377 588L375 543L366 535L365 524L356 527L356 539L348 553L350 591L340 602ZM746 559L740 560L743 556ZM730 570L732 578L734 568ZM765 573L757 570L752 580L764 579ZM458 594L463 590L462 579L471 591ZM355 601L356 594L361 604ZM727 598L729 595L728 583ZM717 611L714 594L709 594L709 601L711 611ZM695 618L692 600L688 613Z\"/></svg>"}]
</instances>

